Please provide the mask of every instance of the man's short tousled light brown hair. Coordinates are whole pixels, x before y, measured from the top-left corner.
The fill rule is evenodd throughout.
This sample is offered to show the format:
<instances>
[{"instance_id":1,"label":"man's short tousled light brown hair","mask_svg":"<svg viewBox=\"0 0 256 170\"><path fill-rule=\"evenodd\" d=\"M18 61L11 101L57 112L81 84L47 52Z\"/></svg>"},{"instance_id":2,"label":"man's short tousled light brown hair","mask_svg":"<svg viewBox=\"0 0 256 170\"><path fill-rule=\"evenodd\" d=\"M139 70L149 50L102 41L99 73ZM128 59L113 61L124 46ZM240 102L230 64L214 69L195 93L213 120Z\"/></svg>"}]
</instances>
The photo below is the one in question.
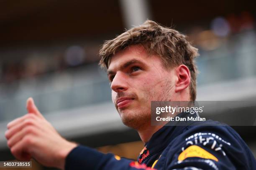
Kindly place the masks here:
<instances>
[{"instance_id":1,"label":"man's short tousled light brown hair","mask_svg":"<svg viewBox=\"0 0 256 170\"><path fill-rule=\"evenodd\" d=\"M195 101L197 66L194 59L198 53L197 48L187 41L185 35L147 20L138 27L126 30L113 40L105 41L100 49L100 66L107 69L111 57L131 45L143 45L148 54L158 55L166 68L186 65L191 75L190 99Z\"/></svg>"}]
</instances>

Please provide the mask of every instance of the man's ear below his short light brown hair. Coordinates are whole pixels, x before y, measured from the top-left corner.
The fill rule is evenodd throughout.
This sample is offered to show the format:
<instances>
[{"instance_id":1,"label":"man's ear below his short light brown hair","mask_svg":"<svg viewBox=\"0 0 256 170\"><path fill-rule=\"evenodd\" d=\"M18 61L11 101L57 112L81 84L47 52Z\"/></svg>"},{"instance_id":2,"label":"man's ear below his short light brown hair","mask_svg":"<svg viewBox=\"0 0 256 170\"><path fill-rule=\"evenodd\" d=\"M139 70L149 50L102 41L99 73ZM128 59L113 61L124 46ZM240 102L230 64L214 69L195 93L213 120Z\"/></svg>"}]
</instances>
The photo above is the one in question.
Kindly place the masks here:
<instances>
[{"instance_id":1,"label":"man's ear below his short light brown hair","mask_svg":"<svg viewBox=\"0 0 256 170\"><path fill-rule=\"evenodd\" d=\"M176 68L178 80L175 84L175 92L180 92L186 89L190 84L190 72L186 65L179 65Z\"/></svg>"}]
</instances>

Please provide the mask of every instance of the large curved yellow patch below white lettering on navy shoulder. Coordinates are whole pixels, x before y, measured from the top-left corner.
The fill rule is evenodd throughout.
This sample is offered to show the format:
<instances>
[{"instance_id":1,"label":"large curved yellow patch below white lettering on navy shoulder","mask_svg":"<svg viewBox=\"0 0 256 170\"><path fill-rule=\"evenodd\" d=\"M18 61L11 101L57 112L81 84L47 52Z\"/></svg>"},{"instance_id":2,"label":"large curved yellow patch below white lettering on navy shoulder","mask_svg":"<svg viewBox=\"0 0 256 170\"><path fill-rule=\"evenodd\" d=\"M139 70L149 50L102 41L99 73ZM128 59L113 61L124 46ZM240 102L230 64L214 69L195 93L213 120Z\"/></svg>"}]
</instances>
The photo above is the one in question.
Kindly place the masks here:
<instances>
[{"instance_id":1,"label":"large curved yellow patch below white lettering on navy shoulder","mask_svg":"<svg viewBox=\"0 0 256 170\"><path fill-rule=\"evenodd\" d=\"M212 155L211 153L207 152L206 150L204 150L203 148L197 145L192 145L192 146L189 146L187 149L185 149L181 154L179 154L178 160L182 161L186 158L191 158L191 157L211 159L218 162L218 159L214 155Z\"/></svg>"}]
</instances>

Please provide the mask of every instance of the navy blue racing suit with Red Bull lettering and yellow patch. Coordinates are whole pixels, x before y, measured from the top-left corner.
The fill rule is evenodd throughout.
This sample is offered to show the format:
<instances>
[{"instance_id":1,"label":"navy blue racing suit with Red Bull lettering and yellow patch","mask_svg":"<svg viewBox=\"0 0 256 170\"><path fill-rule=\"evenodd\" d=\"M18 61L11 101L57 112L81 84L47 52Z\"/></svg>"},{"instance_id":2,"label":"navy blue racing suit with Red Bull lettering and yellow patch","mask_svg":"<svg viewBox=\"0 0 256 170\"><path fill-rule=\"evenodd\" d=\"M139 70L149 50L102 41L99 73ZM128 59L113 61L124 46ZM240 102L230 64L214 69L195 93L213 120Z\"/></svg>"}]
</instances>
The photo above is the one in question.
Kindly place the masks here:
<instances>
[{"instance_id":1,"label":"navy blue racing suit with Red Bull lettering and yellow patch","mask_svg":"<svg viewBox=\"0 0 256 170\"><path fill-rule=\"evenodd\" d=\"M235 130L220 122L164 126L145 144L137 161L79 145L65 170L256 170L256 160Z\"/></svg>"}]
</instances>

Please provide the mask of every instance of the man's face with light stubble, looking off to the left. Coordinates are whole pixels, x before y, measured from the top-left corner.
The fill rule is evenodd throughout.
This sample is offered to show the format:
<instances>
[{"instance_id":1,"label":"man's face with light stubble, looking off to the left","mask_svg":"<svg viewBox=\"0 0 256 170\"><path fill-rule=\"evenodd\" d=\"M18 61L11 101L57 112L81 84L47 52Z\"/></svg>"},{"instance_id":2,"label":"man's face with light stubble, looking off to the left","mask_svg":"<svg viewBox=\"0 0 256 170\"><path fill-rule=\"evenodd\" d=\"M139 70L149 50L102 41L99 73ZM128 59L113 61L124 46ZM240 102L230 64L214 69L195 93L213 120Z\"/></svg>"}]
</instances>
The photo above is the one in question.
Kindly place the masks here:
<instances>
[{"instance_id":1,"label":"man's face with light stubble, looking off to the left","mask_svg":"<svg viewBox=\"0 0 256 170\"><path fill-rule=\"evenodd\" d=\"M159 56L136 45L112 57L108 78L123 123L138 130L151 122L151 101L172 99L177 77L173 69L164 69Z\"/></svg>"}]
</instances>

